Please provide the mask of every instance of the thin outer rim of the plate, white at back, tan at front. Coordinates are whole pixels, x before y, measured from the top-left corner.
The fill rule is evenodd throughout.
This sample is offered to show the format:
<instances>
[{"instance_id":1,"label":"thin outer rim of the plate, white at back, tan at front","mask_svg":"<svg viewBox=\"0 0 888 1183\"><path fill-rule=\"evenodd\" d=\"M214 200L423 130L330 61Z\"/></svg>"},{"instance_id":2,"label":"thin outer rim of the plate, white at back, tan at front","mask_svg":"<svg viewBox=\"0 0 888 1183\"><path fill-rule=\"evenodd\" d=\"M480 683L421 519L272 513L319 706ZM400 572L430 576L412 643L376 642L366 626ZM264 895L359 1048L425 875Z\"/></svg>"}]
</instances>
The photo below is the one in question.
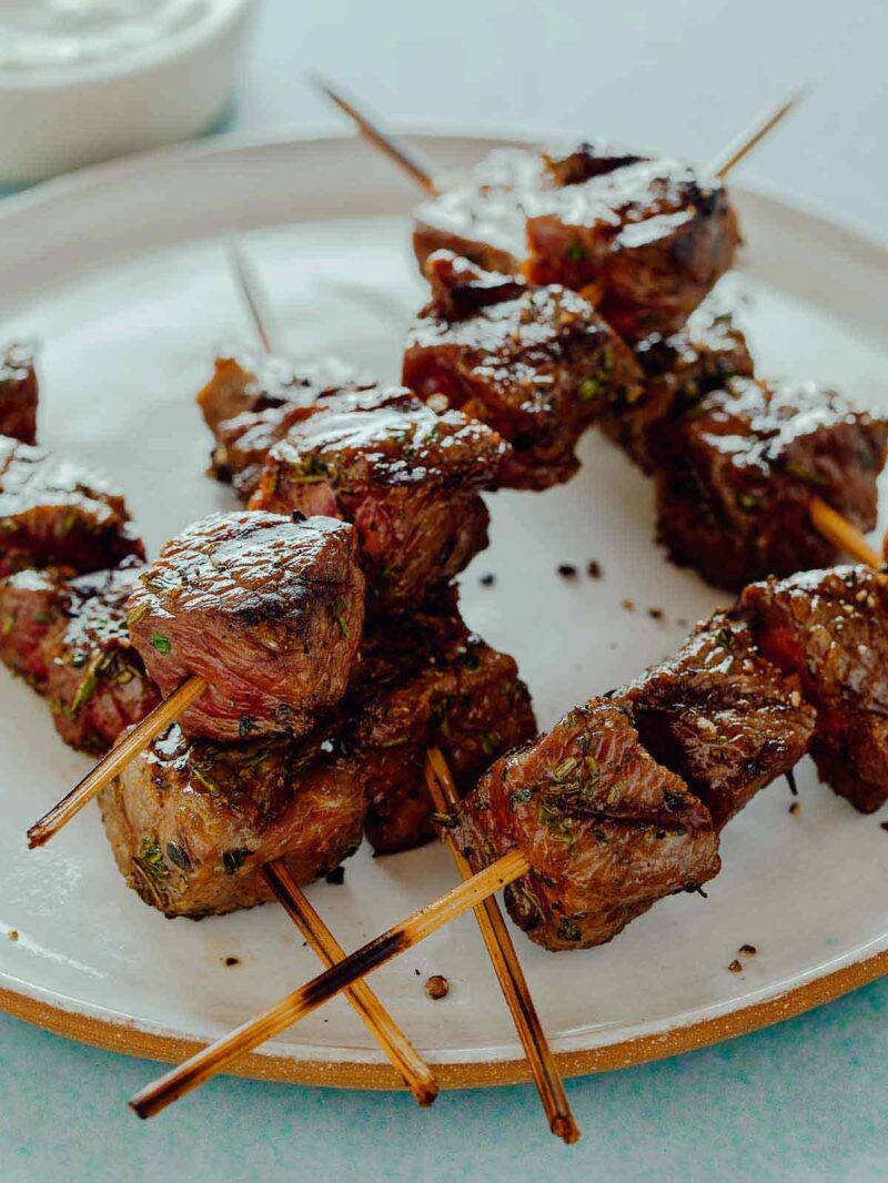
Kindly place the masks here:
<instances>
[{"instance_id":1,"label":"thin outer rim of the plate, white at back, tan at front","mask_svg":"<svg viewBox=\"0 0 888 1183\"><path fill-rule=\"evenodd\" d=\"M515 123L480 121L392 121L400 134L410 135L420 144L436 141L502 140L540 142L564 137L564 131L519 125ZM96 189L126 182L131 176L150 175L162 168L176 168L193 161L230 156L238 153L294 148L305 143L348 142L355 137L347 128L330 123L302 124L298 130L284 129L272 134L234 132L204 141L188 141L146 153L134 154L105 163L94 164L13 194L0 201L0 222L18 215L39 213L41 206L52 207L58 201L79 198ZM812 231L828 233L834 241L854 253L864 253L867 261L888 272L888 239L880 239L873 227L855 222L830 209L826 205L800 196L793 190L760 180L735 186L738 192L764 199L802 216ZM871 956L845 962L837 969L810 977L773 996L734 1006L704 1019L682 1022L673 1019L671 1026L661 1030L635 1034L628 1039L594 1048L560 1051L554 1059L565 1077L579 1077L650 1062L708 1047L727 1039L751 1034L777 1022L794 1017L823 1003L834 1001L877 977L888 974L888 949ZM24 983L22 983L24 984ZM39 989L39 988L38 988ZM175 1034L159 1034L126 1019L101 1019L89 1013L89 1004L81 1010L52 1004L34 993L0 988L0 1009L53 1034L108 1051L144 1059L178 1062L204 1047L200 1040ZM345 1051L345 1049L343 1049ZM523 1059L482 1059L432 1061L433 1071L444 1088L490 1087L529 1081L532 1074ZM251 1053L232 1068L232 1074L251 1079L297 1085L345 1087L355 1090L398 1090L404 1085L387 1064L349 1059L302 1059L292 1054Z\"/></svg>"}]
</instances>

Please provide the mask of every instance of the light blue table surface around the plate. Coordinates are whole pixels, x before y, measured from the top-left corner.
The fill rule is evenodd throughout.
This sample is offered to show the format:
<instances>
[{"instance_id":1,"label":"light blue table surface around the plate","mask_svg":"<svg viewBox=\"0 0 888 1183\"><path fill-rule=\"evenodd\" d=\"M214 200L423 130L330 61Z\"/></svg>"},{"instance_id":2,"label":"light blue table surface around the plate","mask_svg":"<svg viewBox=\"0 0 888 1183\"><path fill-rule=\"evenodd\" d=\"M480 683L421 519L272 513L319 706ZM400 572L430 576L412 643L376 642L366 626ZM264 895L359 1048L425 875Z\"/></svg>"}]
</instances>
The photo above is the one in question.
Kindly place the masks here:
<instances>
[{"instance_id":1,"label":"light blue table surface around the plate","mask_svg":"<svg viewBox=\"0 0 888 1183\"><path fill-rule=\"evenodd\" d=\"M303 80L316 65L392 116L511 118L704 159L812 80L753 172L883 234L886 11L883 0L268 0L237 123L324 117ZM141 1124L126 1099L154 1075L0 1016L0 1179L888 1176L888 981L721 1047L570 1082L585 1134L572 1149L548 1134L529 1087L446 1093L420 1113L400 1095L225 1079Z\"/></svg>"}]
</instances>

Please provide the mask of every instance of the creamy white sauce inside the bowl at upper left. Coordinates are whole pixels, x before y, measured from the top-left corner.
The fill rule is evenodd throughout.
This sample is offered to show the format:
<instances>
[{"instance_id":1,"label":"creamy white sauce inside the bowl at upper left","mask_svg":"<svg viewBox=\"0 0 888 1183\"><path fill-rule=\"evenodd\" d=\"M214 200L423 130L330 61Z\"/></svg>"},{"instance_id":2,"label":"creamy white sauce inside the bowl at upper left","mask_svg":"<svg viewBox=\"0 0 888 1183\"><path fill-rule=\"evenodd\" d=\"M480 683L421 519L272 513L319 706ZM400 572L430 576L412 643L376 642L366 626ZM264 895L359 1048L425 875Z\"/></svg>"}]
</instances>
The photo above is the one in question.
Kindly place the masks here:
<instances>
[{"instance_id":1,"label":"creamy white sauce inside the bowl at upper left","mask_svg":"<svg viewBox=\"0 0 888 1183\"><path fill-rule=\"evenodd\" d=\"M231 0L0 0L0 72L116 63L231 7Z\"/></svg>"}]
</instances>

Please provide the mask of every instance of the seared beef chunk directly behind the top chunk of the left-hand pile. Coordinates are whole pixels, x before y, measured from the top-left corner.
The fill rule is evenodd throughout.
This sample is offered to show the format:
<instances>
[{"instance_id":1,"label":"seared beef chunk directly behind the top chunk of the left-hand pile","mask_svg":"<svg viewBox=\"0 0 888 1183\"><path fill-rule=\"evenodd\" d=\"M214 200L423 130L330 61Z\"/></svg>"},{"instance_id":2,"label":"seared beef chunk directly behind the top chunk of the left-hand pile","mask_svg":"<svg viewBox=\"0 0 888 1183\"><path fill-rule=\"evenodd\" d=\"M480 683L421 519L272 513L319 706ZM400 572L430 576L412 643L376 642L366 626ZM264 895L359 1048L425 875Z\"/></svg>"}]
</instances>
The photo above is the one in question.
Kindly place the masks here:
<instances>
[{"instance_id":1,"label":"seared beef chunk directly behind the top chunk of the left-hand pile","mask_svg":"<svg viewBox=\"0 0 888 1183\"><path fill-rule=\"evenodd\" d=\"M442 414L397 388L343 396L291 426L272 448L251 509L354 523L379 609L408 609L487 545L491 487L508 445L458 411Z\"/></svg>"}]
</instances>

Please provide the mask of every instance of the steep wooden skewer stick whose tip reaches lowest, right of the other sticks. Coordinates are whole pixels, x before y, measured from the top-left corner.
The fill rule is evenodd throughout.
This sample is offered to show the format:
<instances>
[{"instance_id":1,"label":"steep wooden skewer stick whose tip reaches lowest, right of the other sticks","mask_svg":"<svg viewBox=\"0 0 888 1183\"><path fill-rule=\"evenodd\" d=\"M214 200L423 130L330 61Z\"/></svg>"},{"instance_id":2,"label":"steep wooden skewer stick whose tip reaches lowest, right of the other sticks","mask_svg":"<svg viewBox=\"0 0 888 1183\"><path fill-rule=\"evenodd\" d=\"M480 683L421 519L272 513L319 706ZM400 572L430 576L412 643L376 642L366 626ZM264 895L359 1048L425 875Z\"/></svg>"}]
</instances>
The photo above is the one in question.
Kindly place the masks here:
<instances>
[{"instance_id":1,"label":"steep wooden skewer stick whose tip reaches lowest, right of the other sticks","mask_svg":"<svg viewBox=\"0 0 888 1183\"><path fill-rule=\"evenodd\" d=\"M426 755L425 780L435 808L439 813L450 813L459 804L459 796L450 769L437 748L430 749ZM464 883L468 881L472 878L469 861L457 846L451 832L445 828L443 835L450 847L450 853L453 855L459 875ZM571 1111L564 1081L552 1058L552 1051L540 1016L536 1014L536 1007L521 969L515 945L493 896L488 896L485 900L475 906L475 918L478 922L481 936L484 938L487 951L500 980L500 987L521 1037L536 1091L549 1121L549 1129L568 1145L579 1142L580 1130Z\"/></svg>"}]
</instances>

